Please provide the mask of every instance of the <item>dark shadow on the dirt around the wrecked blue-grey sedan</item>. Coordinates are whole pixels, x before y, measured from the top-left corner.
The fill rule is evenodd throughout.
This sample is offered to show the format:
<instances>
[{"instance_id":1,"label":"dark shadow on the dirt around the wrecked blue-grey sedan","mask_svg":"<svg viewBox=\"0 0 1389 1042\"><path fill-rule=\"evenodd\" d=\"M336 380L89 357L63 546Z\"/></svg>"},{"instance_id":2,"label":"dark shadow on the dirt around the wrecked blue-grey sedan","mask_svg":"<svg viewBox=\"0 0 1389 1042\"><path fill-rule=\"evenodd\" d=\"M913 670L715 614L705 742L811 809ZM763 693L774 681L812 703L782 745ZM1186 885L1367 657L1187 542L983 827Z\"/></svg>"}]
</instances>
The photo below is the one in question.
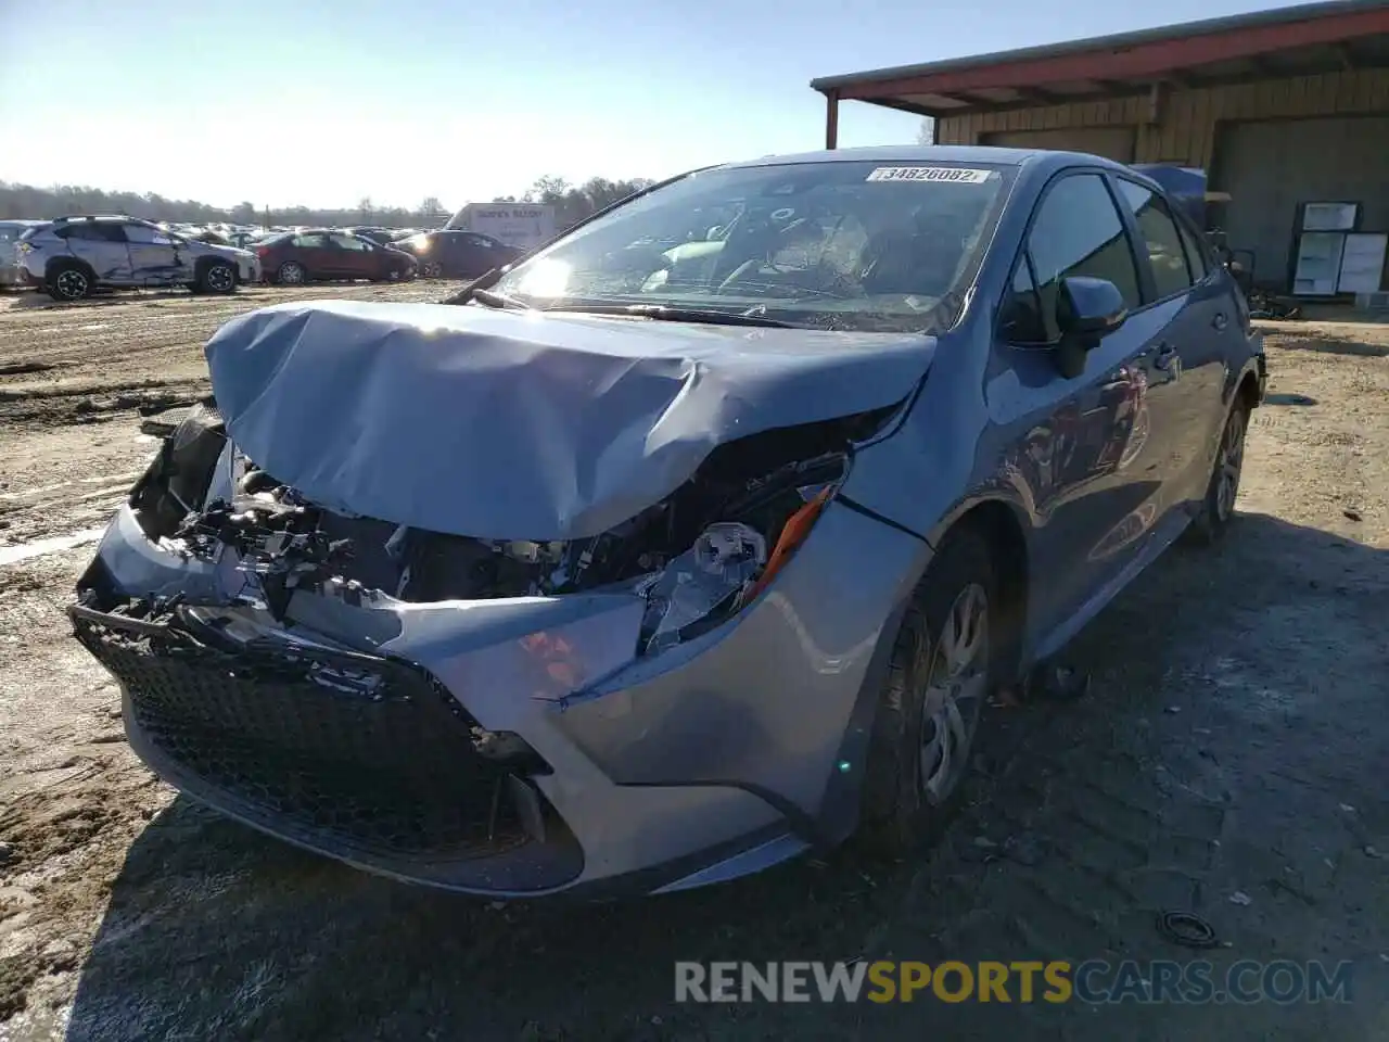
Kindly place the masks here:
<instances>
[{"instance_id":1,"label":"dark shadow on the dirt around the wrecked blue-grey sedan","mask_svg":"<svg viewBox=\"0 0 1389 1042\"><path fill-rule=\"evenodd\" d=\"M1367 668L1357 649L1368 631L1357 627L1372 625L1386 595L1389 554L1268 515L1242 515L1220 550L1174 550L1072 646L1071 659L1093 671L1088 697L993 710L970 804L911 860L845 847L685 895L499 906L378 879L178 799L129 849L68 1038L917 1039L926 1029L1064 1029L1068 1039L1138 1039L1167 1038L1178 1024L1186 1038L1370 1038L1371 1021L1338 1031L1325 1006L1265 1003L1236 1010L1238 1021L1213 1020L1231 1010L1207 1006L1204 1020L1181 1021L1190 1007L672 999L676 960L1200 954L1164 946L1154 931L1154 911L1171 907L1208 916L1229 957L1332 957L1324 953L1338 943L1356 957L1372 953L1385 941L1375 932L1389 928L1385 893L1358 881L1353 850L1335 886L1365 923L1386 924L1363 927L1354 943L1303 924L1303 899L1288 899L1289 911L1286 895L1240 873L1256 871L1245 859L1267 854L1258 845L1283 828L1317 850L1339 835L1333 821L1308 824L1320 820L1303 788L1270 788L1274 761L1307 785L1345 775L1338 799L1389 835L1374 781L1389 746L1350 738L1382 709L1361 700L1364 685L1333 682L1338 670ZM1307 628L1318 618L1325 632ZM1371 652L1382 653L1378 640ZM1320 685L1318 697L1297 700L1307 684ZM1345 735L1325 729L1320 717L1329 714ZM1296 728L1317 736L1315 747L1297 746L1306 763L1281 745ZM1240 828L1221 810L1232 806ZM1256 895L1253 909L1225 899L1222 873ZM1293 878L1274 882L1295 889ZM1324 900L1313 882L1300 885L1307 900ZM1263 911L1292 924L1249 918Z\"/></svg>"}]
</instances>

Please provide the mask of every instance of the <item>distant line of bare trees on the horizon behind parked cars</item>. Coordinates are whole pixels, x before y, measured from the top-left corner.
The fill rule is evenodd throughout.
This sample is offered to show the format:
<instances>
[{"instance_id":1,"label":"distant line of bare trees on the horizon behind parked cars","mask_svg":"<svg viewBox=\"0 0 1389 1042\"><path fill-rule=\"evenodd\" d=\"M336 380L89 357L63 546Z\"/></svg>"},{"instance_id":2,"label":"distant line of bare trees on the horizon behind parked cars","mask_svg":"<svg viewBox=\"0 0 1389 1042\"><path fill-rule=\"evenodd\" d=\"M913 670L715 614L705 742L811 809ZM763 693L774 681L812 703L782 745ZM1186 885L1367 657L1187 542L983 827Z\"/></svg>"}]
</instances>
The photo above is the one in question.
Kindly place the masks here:
<instances>
[{"instance_id":1,"label":"distant line of bare trees on the horizon behind parked cars","mask_svg":"<svg viewBox=\"0 0 1389 1042\"><path fill-rule=\"evenodd\" d=\"M567 228L610 203L632 195L650 181L608 181L592 178L579 186L572 186L563 178L540 178L519 196L503 196L493 203L550 203L557 207L556 224ZM31 218L47 220L64 214L129 214L151 221L179 221L186 224L271 224L271 225L356 225L372 224L388 228L431 228L442 225L453 210L431 196L414 210L404 207L381 207L369 199L363 199L354 208L324 210L308 206L258 207L254 203L239 203L229 210L192 199L165 199L151 192L103 192L85 185L53 185L35 188L0 181L0 220Z\"/></svg>"}]
</instances>

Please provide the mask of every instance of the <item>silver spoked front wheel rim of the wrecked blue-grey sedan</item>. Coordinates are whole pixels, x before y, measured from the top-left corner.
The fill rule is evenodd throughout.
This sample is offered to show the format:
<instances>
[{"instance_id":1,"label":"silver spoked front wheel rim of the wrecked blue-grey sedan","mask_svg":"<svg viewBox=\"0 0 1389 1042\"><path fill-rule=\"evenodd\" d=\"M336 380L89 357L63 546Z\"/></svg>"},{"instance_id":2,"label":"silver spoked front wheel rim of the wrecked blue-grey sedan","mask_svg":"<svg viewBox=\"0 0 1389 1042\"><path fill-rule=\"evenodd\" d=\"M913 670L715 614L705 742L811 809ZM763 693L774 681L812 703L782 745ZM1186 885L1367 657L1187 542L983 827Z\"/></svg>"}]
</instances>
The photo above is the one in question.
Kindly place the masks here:
<instances>
[{"instance_id":1,"label":"silver spoked front wheel rim of the wrecked blue-grey sedan","mask_svg":"<svg viewBox=\"0 0 1389 1042\"><path fill-rule=\"evenodd\" d=\"M918 774L932 804L950 797L970 763L989 684L989 597L970 584L954 599L926 672Z\"/></svg>"}]
</instances>

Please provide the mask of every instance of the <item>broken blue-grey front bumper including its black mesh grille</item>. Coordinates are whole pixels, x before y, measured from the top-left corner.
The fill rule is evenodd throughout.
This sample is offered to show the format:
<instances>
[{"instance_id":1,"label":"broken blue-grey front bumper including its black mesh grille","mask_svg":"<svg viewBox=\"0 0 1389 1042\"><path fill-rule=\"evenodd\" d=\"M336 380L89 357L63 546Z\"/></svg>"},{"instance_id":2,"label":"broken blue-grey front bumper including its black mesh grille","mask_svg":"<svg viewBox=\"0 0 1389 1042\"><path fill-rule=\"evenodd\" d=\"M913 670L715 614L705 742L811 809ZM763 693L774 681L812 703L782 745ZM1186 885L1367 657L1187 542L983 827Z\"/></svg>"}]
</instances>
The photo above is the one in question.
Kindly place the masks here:
<instances>
[{"instance_id":1,"label":"broken blue-grey front bumper including its black mesh grille","mask_svg":"<svg viewBox=\"0 0 1389 1042\"><path fill-rule=\"evenodd\" d=\"M643 893L851 831L864 709L925 552L832 503L750 607L639 657L631 595L296 595L282 625L228 607L239 574L151 543L122 507L72 621L121 682L135 752L231 817L446 889ZM210 607L172 627L117 614L171 595ZM479 757L475 727L540 766Z\"/></svg>"}]
</instances>

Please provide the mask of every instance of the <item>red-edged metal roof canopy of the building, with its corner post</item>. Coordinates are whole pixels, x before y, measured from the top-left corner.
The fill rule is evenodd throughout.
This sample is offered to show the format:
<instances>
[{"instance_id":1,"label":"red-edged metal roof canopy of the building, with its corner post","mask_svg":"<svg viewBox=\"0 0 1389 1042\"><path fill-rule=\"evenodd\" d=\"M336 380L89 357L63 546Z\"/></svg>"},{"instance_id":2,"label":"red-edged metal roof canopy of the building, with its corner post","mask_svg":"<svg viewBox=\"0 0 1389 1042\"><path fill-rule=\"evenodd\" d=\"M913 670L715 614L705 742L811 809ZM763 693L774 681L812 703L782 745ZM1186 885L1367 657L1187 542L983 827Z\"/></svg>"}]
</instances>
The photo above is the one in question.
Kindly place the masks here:
<instances>
[{"instance_id":1,"label":"red-edged metal roof canopy of the building, with its corner post","mask_svg":"<svg viewBox=\"0 0 1389 1042\"><path fill-rule=\"evenodd\" d=\"M845 99L963 115L1250 79L1389 67L1389 0L1333 0L1042 47L821 76L826 147Z\"/></svg>"}]
</instances>

